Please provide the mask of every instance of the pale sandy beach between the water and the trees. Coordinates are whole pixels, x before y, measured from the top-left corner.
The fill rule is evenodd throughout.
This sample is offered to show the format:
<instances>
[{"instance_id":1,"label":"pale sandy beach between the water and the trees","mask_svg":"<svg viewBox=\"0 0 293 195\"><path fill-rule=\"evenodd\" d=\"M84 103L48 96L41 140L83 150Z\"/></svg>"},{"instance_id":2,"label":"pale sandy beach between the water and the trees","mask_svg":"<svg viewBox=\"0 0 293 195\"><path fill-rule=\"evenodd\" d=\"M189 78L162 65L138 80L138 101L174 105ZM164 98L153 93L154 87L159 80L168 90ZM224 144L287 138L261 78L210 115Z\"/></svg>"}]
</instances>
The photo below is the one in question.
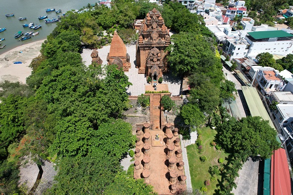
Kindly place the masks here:
<instances>
[{"instance_id":1,"label":"pale sandy beach between the water and the trees","mask_svg":"<svg viewBox=\"0 0 293 195\"><path fill-rule=\"evenodd\" d=\"M0 55L0 82L9 80L25 83L32 69L29 67L32 59L38 57L45 39L27 43ZM13 62L21 61L21 64Z\"/></svg>"}]
</instances>

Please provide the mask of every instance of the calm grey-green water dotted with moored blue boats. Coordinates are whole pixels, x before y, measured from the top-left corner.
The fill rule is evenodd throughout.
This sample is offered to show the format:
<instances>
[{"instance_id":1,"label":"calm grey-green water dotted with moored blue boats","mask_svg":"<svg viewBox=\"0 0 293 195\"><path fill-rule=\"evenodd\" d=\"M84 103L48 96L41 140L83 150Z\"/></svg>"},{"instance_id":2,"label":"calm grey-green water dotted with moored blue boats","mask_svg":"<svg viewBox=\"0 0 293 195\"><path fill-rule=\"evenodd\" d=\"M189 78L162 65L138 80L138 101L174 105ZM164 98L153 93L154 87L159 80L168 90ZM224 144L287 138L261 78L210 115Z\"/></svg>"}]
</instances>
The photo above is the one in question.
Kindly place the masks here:
<instances>
[{"instance_id":1,"label":"calm grey-green water dotted with moored blue boats","mask_svg":"<svg viewBox=\"0 0 293 195\"><path fill-rule=\"evenodd\" d=\"M38 19L39 16L48 15L50 19L57 18L58 15L62 15L66 11L81 9L88 3L95 4L98 0L0 0L0 2L0 28L6 28L5 31L0 32L0 38L5 38L1 41L0 46L6 45L5 49L0 49L0 54L3 54L19 45L47 38L56 27L57 22L46 24L45 21ZM61 9L62 13L45 12L46 9L52 8ZM5 17L5 14L10 13L14 13L15 16ZM20 17L26 17L26 20L19 21ZM22 24L31 22L42 25L42 28L36 30L39 31L39 35L24 41L15 39L14 34L18 31L26 33L32 30L28 27L22 27Z\"/></svg>"}]
</instances>

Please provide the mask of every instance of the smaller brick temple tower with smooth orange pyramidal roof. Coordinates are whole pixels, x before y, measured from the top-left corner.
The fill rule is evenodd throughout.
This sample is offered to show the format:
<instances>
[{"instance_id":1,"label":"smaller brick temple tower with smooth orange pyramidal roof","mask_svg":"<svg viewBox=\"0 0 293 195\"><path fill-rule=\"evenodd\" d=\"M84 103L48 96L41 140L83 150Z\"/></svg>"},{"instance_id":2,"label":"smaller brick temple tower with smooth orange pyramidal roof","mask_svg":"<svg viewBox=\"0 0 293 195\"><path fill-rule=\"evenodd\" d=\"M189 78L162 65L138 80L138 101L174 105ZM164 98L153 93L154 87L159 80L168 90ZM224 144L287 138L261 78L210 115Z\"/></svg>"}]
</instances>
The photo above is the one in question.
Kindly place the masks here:
<instances>
[{"instance_id":1,"label":"smaller brick temple tower with smooth orange pyramidal roof","mask_svg":"<svg viewBox=\"0 0 293 195\"><path fill-rule=\"evenodd\" d=\"M117 64L118 68L122 68L124 72L128 72L130 65L130 57L126 53L126 46L117 32L114 32L112 38L110 52L107 56L108 65Z\"/></svg>"}]
</instances>

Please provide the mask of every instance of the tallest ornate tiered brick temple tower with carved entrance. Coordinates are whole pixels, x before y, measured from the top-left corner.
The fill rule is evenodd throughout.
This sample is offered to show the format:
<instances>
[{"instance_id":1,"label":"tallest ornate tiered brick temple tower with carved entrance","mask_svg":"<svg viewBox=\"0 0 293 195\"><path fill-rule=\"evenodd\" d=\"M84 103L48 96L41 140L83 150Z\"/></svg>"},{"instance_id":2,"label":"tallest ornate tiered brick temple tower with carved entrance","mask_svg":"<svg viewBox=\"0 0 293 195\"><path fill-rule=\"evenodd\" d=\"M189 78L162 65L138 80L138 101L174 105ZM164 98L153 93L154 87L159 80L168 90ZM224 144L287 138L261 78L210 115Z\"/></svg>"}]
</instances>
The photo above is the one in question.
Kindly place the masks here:
<instances>
[{"instance_id":1,"label":"tallest ornate tiered brick temple tower with carved entrance","mask_svg":"<svg viewBox=\"0 0 293 195\"><path fill-rule=\"evenodd\" d=\"M158 80L167 71L167 52L170 44L169 30L155 8L146 14L136 43L136 65L140 74Z\"/></svg>"}]
</instances>

